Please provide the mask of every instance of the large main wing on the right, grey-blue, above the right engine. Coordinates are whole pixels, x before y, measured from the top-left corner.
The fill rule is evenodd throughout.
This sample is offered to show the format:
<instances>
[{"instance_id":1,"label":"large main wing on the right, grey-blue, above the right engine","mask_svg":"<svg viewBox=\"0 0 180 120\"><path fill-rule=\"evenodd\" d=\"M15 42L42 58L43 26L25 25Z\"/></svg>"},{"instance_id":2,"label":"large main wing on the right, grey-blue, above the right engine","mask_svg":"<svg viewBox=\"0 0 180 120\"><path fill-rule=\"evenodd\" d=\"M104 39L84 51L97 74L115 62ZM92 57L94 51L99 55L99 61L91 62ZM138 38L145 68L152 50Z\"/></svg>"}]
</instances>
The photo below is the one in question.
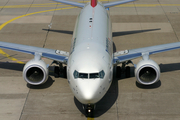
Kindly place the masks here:
<instances>
[{"instance_id":1,"label":"large main wing on the right, grey-blue, above the right engine","mask_svg":"<svg viewBox=\"0 0 180 120\"><path fill-rule=\"evenodd\" d=\"M169 43L163 45L156 45L151 47L139 48L139 49L132 49L132 50L124 50L114 53L114 64L119 64L128 60L132 60L138 57L143 56L144 54L156 54L160 52L175 50L180 48L180 42L176 43Z\"/></svg>"}]
</instances>

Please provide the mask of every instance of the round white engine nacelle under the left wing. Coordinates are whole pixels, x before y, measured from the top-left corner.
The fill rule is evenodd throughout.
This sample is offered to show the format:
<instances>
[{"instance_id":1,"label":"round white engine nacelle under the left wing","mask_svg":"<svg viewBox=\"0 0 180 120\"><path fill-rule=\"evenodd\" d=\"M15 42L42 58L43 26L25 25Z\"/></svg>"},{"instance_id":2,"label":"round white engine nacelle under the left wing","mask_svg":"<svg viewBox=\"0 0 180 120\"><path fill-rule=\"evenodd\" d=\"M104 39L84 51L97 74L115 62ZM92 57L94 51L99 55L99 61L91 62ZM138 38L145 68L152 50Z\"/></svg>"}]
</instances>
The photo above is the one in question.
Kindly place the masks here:
<instances>
[{"instance_id":1,"label":"round white engine nacelle under the left wing","mask_svg":"<svg viewBox=\"0 0 180 120\"><path fill-rule=\"evenodd\" d=\"M24 80L31 85L40 85L47 81L49 70L43 60L32 59L23 69Z\"/></svg>"}]
</instances>

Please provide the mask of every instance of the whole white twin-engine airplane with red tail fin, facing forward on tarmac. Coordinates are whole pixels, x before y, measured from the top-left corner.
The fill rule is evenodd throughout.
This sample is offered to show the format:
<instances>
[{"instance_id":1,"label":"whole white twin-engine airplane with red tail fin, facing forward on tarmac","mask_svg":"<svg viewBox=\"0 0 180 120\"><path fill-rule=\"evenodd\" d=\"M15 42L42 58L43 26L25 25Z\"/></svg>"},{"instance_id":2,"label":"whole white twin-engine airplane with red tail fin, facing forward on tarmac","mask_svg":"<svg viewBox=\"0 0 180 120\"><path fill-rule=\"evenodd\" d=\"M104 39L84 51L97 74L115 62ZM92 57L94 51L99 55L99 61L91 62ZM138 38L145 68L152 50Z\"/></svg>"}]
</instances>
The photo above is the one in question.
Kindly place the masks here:
<instances>
[{"instance_id":1,"label":"whole white twin-engine airplane with red tail fin, facing forward on tarmac","mask_svg":"<svg viewBox=\"0 0 180 120\"><path fill-rule=\"evenodd\" d=\"M125 70L126 76L129 77L128 64L132 63L131 60L142 57L142 60L134 65L135 77L142 85L152 85L159 81L160 68L149 55L180 48L180 42L176 42L113 52L108 8L135 0L104 4L97 0L86 4L66 0L53 1L82 8L76 20L70 52L8 42L0 42L0 48L34 55L23 68L23 78L31 85L41 85L48 79L49 66L41 58L53 60L53 63L59 65L55 72L63 72L67 76L74 96L83 104L87 114L93 113L95 104L108 91L114 68L116 77L120 77L121 70ZM118 66L119 64L122 64L122 67Z\"/></svg>"}]
</instances>

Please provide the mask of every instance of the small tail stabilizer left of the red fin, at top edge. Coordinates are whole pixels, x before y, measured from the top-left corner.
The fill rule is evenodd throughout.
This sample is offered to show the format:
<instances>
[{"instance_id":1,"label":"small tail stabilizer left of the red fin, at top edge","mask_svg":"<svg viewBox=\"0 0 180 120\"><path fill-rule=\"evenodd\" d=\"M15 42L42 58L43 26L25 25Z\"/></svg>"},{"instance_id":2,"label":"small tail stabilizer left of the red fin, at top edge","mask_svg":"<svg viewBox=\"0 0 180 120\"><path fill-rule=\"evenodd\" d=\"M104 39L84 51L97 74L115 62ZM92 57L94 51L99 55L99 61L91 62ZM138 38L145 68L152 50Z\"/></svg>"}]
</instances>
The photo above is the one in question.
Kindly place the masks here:
<instances>
[{"instance_id":1,"label":"small tail stabilizer left of the red fin, at top edge","mask_svg":"<svg viewBox=\"0 0 180 120\"><path fill-rule=\"evenodd\" d=\"M80 8L83 8L85 6L84 3L77 3L77 2L67 1L67 0L53 0L53 1L80 7Z\"/></svg>"}]
</instances>

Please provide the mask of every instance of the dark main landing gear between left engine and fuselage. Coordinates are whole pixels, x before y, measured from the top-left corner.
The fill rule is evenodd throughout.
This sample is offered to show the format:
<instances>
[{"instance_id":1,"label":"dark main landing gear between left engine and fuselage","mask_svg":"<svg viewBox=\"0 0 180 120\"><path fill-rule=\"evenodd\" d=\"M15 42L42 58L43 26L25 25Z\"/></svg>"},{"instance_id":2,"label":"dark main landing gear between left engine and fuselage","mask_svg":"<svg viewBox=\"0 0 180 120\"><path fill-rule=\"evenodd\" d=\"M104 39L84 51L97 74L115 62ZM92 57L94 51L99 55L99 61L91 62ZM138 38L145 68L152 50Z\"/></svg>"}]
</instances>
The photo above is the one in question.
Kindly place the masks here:
<instances>
[{"instance_id":1,"label":"dark main landing gear between left engine and fuselage","mask_svg":"<svg viewBox=\"0 0 180 120\"><path fill-rule=\"evenodd\" d=\"M63 66L62 63L57 62L57 61L53 61L53 63L55 63L56 65L59 65L59 66L55 66L54 67L55 77L64 77L64 78L67 78L67 67Z\"/></svg>"}]
</instances>

